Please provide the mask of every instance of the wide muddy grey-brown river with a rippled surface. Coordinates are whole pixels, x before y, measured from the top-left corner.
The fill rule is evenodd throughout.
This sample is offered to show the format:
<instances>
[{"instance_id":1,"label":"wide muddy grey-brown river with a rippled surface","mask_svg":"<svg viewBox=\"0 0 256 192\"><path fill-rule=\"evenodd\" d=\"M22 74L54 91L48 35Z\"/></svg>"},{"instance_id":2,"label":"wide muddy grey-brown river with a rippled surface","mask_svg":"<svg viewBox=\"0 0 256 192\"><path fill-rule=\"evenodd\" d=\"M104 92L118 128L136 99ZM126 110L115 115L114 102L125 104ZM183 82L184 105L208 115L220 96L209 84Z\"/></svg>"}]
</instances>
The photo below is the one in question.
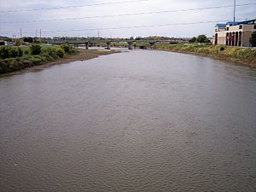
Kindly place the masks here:
<instances>
[{"instance_id":1,"label":"wide muddy grey-brown river with a rippled surface","mask_svg":"<svg viewBox=\"0 0 256 192\"><path fill-rule=\"evenodd\" d=\"M256 191L256 71L134 50L0 79L0 191Z\"/></svg>"}]
</instances>

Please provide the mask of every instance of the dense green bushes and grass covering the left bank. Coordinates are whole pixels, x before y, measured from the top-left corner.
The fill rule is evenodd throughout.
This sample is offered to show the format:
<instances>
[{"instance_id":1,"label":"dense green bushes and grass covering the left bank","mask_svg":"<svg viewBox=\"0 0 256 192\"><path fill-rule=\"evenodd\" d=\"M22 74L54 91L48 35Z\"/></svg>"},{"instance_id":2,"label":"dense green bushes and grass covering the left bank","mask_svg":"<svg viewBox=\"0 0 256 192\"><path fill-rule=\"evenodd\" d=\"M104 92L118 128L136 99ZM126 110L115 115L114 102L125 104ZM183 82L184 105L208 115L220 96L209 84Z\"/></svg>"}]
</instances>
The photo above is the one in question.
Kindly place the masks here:
<instances>
[{"instance_id":1,"label":"dense green bushes and grass covering the left bank","mask_svg":"<svg viewBox=\"0 0 256 192\"><path fill-rule=\"evenodd\" d=\"M42 65L71 54L75 54L75 49L68 44L61 46L32 44L29 47L0 47L0 74Z\"/></svg>"}]
</instances>

